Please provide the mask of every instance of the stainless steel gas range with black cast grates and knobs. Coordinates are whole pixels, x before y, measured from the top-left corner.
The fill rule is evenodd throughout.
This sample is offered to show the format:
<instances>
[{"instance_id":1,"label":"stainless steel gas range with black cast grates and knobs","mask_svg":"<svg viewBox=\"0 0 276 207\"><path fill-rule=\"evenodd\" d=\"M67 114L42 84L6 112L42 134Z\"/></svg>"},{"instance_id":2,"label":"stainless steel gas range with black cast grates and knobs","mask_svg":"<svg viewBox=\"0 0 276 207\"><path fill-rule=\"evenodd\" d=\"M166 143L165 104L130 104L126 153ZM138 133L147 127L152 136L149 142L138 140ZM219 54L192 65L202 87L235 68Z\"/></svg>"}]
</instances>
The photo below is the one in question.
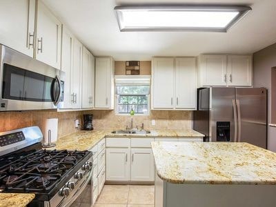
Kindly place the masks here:
<instances>
[{"instance_id":1,"label":"stainless steel gas range with black cast grates and knobs","mask_svg":"<svg viewBox=\"0 0 276 207\"><path fill-rule=\"evenodd\" d=\"M92 181L92 152L43 150L42 137L38 127L0 133L0 192L34 193L29 206L70 206Z\"/></svg>"}]
</instances>

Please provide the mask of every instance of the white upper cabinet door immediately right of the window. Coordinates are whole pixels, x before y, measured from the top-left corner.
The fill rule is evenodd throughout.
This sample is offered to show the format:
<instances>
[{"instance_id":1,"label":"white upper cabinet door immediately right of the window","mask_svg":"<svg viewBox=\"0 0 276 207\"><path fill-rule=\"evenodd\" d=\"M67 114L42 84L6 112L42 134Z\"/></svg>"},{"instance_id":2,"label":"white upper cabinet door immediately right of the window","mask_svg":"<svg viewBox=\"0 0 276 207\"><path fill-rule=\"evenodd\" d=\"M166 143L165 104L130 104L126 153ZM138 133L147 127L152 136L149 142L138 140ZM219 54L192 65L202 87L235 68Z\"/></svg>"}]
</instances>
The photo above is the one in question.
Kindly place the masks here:
<instances>
[{"instance_id":1,"label":"white upper cabinet door immediately right of the window","mask_svg":"<svg viewBox=\"0 0 276 207\"><path fill-rule=\"evenodd\" d=\"M174 108L174 59L154 58L152 61L152 109Z\"/></svg>"}]
</instances>

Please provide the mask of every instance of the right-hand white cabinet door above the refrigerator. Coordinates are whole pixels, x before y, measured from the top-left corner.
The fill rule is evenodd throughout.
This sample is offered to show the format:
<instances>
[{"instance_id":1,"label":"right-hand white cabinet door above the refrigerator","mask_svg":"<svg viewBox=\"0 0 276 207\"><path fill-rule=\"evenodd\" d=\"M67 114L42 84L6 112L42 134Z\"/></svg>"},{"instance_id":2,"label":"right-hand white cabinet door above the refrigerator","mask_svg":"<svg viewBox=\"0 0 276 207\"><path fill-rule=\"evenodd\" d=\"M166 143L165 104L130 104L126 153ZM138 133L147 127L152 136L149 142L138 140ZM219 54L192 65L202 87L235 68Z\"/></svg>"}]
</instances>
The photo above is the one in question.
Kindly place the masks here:
<instances>
[{"instance_id":1,"label":"right-hand white cabinet door above the refrigerator","mask_svg":"<svg viewBox=\"0 0 276 207\"><path fill-rule=\"evenodd\" d=\"M229 55L228 86L252 86L252 56Z\"/></svg>"}]
</instances>

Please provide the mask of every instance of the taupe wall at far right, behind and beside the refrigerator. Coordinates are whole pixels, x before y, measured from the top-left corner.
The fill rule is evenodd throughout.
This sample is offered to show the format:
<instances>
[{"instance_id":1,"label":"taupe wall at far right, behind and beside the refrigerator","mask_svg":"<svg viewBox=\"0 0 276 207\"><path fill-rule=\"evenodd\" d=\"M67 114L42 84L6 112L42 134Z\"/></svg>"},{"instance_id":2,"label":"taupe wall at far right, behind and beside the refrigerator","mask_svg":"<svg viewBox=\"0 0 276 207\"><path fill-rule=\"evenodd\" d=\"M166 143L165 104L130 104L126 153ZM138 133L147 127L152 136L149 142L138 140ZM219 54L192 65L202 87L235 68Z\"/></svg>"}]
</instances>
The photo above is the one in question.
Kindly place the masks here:
<instances>
[{"instance_id":1,"label":"taupe wall at far right, behind and beside the refrigerator","mask_svg":"<svg viewBox=\"0 0 276 207\"><path fill-rule=\"evenodd\" d=\"M254 87L268 88L268 123L271 123L271 68L276 66L276 43L253 55ZM268 150L276 152L276 128L268 126Z\"/></svg>"}]
</instances>

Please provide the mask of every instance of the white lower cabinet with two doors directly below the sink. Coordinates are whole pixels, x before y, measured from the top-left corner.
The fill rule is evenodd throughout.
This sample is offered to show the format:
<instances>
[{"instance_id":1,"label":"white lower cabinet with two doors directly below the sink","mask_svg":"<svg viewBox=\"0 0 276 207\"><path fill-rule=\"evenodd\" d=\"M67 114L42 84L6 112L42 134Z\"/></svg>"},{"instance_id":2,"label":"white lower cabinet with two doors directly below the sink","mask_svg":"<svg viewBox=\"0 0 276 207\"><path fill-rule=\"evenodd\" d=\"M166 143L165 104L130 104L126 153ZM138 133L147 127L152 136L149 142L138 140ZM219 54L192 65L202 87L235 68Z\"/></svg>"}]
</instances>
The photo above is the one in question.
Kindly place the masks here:
<instances>
[{"instance_id":1,"label":"white lower cabinet with two doors directly below the sink","mask_svg":"<svg viewBox=\"0 0 276 207\"><path fill-rule=\"evenodd\" d=\"M107 138L107 181L154 181L153 138Z\"/></svg>"}]
</instances>

